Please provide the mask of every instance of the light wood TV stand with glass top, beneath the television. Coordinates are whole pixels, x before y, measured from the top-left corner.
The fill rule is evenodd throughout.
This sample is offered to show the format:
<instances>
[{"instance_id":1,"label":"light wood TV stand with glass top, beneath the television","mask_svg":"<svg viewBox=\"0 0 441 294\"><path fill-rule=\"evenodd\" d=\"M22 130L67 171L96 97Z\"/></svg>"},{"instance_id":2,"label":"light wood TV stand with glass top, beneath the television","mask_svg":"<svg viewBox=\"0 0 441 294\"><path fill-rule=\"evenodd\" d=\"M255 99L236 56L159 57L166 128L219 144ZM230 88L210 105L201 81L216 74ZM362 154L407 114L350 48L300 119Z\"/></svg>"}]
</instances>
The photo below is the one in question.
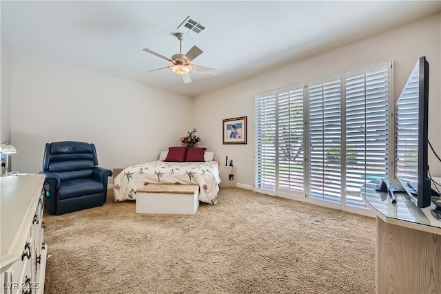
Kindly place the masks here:
<instances>
[{"instance_id":1,"label":"light wood TV stand with glass top, beneath the television","mask_svg":"<svg viewBox=\"0 0 441 294\"><path fill-rule=\"evenodd\" d=\"M376 214L376 293L441 293L441 220L420 209L405 193L391 202L377 182L361 196ZM398 181L392 181L398 186Z\"/></svg>"}]
</instances>

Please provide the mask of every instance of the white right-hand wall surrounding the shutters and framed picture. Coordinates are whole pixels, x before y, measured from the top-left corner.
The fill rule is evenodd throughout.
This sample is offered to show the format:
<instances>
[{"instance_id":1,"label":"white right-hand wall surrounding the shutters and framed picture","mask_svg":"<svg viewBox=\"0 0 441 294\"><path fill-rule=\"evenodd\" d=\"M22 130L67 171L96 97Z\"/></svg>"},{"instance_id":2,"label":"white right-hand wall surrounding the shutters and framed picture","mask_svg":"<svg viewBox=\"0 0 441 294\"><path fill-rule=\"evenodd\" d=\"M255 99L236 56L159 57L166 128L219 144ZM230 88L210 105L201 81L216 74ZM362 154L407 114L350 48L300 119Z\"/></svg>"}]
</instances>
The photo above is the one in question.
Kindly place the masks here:
<instances>
[{"instance_id":1,"label":"white right-hand wall surrounding the shutters and framed picture","mask_svg":"<svg viewBox=\"0 0 441 294\"><path fill-rule=\"evenodd\" d=\"M254 94L338 74L357 67L392 59L394 98L398 100L404 83L420 56L430 63L429 140L441 156L441 14L434 14L400 28L330 50L308 59L265 72L216 92L195 98L196 126L208 146L220 157L232 158L238 170L238 186L254 185ZM207 109L212 109L208 111ZM248 117L248 144L222 145L222 120ZM432 176L441 175L441 163L429 152Z\"/></svg>"}]
</instances>

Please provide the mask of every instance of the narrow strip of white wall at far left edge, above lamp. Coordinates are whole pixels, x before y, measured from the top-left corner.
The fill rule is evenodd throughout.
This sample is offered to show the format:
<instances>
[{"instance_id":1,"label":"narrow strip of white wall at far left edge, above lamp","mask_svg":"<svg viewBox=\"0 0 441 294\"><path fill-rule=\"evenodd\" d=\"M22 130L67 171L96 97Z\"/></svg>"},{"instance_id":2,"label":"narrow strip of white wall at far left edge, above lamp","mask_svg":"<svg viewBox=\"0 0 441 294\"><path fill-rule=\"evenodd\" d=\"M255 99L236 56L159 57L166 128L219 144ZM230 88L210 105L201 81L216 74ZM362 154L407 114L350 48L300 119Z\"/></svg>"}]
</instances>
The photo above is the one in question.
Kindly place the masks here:
<instances>
[{"instance_id":1,"label":"narrow strip of white wall at far left edge, above lamp","mask_svg":"<svg viewBox=\"0 0 441 294\"><path fill-rule=\"evenodd\" d=\"M11 140L11 48L1 32L0 143ZM11 160L12 162L12 160Z\"/></svg>"}]
</instances>

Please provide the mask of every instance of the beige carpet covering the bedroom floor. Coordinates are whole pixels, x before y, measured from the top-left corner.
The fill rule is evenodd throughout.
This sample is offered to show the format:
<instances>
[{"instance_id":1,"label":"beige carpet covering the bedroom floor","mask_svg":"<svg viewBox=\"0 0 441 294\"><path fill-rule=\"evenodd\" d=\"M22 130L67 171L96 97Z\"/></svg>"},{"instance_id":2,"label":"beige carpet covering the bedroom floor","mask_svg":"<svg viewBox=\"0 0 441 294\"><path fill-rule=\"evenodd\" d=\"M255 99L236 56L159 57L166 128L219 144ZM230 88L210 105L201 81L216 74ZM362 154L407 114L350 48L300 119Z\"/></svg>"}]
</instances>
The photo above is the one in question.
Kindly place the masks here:
<instances>
[{"instance_id":1,"label":"beige carpet covering the bedroom floor","mask_svg":"<svg viewBox=\"0 0 441 294\"><path fill-rule=\"evenodd\" d=\"M45 215L45 293L375 293L375 220L244 189L195 216Z\"/></svg>"}]
</instances>

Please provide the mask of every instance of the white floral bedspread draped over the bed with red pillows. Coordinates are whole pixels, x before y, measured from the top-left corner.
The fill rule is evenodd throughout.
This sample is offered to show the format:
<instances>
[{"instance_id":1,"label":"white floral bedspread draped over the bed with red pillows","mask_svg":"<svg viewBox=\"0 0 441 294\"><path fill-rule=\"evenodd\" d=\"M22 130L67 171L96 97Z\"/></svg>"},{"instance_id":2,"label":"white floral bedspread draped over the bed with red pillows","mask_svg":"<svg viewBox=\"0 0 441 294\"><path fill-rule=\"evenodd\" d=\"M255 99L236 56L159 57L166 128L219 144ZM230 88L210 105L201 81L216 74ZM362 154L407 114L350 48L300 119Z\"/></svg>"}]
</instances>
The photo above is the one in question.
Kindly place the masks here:
<instances>
[{"instance_id":1,"label":"white floral bedspread draped over the bed with red pillows","mask_svg":"<svg viewBox=\"0 0 441 294\"><path fill-rule=\"evenodd\" d=\"M114 178L115 201L135 200L136 189L154 184L199 185L199 200L216 204L219 191L219 165L209 162L152 161L127 167Z\"/></svg>"}]
</instances>

